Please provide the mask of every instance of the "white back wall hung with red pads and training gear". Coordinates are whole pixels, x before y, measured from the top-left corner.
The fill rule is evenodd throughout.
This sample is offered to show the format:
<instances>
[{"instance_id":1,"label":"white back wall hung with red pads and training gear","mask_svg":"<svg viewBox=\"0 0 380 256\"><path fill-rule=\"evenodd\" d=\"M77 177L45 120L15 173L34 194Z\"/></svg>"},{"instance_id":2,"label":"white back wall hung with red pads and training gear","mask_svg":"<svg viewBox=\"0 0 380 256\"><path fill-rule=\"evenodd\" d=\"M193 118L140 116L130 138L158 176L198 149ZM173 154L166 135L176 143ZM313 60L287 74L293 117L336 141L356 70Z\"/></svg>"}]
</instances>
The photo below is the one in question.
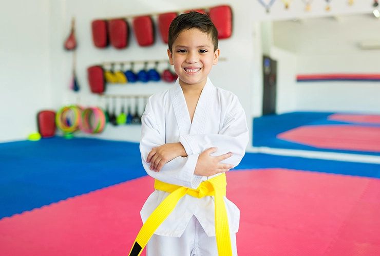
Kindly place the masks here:
<instances>
[{"instance_id":1,"label":"white back wall hung with red pads and training gear","mask_svg":"<svg viewBox=\"0 0 380 256\"><path fill-rule=\"evenodd\" d=\"M213 67L210 78L213 83L226 90L233 91L239 97L244 109L247 110L248 117L250 116L250 90L251 90L251 70L252 70L252 56L253 56L253 35L251 32L252 17L251 10L246 8L246 1L227 1L223 2L232 6L234 13L234 30L233 36L226 40L219 41L219 48L221 49L221 56L227 60L219 61L218 65ZM222 3L222 4L223 4ZM107 1L65 1L65 7L59 8L60 3L52 3L52 10L64 10L64 12L56 13L54 15L54 26L56 33L61 35L61 41L52 46L53 54L56 57L56 65L63 66L63 72L53 75L53 79L57 81L55 84L54 98L59 102L55 104L58 108L62 103L80 103L81 105L105 105L105 100L98 95L93 95L89 91L87 83L86 69L91 65L96 65L104 61L129 61L129 60L162 60L167 59L167 45L164 44L160 38L159 33L156 33L156 42L151 47L140 47L131 33L129 46L122 50L117 50L112 47L106 49L98 49L93 46L90 24L93 19L97 18L112 18L126 15L140 15L148 13L163 13L173 10L186 10L201 7L212 7L220 5L220 1L121 1L111 0ZM57 5L57 8L54 8ZM91 8L89 8L91 6ZM71 53L62 50L62 42L68 33L71 16L76 17L76 31L78 37L78 66L77 74L81 91L74 93L68 90L70 69L71 69ZM157 16L153 16L154 20ZM131 20L128 20L129 22ZM157 31L157 29L156 29ZM118 68L119 66L117 66ZM150 67L153 67L150 66ZM126 68L129 68L128 66ZM135 65L135 71L139 71L143 65ZM167 64L160 65L161 70L166 69ZM146 84L130 83L125 86L109 85L106 89L106 94L153 94L162 90L169 89L174 83L148 82ZM59 100L61 98L61 100ZM121 102L117 101L117 113L121 112ZM141 106L141 102L140 102ZM140 114L142 114L142 106ZM250 123L250 122L249 122ZM79 136L89 135L80 134ZM139 141L140 139L140 126L136 125L123 125L112 126L108 125L106 130L100 134L90 137L112 139L112 140L127 140Z\"/></svg>"}]
</instances>

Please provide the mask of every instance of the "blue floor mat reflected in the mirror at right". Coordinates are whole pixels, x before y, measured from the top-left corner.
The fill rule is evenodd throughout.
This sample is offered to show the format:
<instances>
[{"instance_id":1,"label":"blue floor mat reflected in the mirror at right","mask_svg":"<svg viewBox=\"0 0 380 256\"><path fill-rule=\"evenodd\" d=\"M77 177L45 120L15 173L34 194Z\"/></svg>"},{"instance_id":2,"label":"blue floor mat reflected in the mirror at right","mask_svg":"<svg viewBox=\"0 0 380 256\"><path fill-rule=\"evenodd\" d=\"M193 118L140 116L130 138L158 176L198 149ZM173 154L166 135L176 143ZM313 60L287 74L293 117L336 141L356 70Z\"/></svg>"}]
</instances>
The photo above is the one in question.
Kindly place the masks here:
<instances>
[{"instance_id":1,"label":"blue floor mat reflected in the mirror at right","mask_svg":"<svg viewBox=\"0 0 380 256\"><path fill-rule=\"evenodd\" d=\"M307 150L322 152L337 152L360 155L380 156L377 152L362 152L348 150L333 150L330 148L318 148L308 145L302 145L286 140L277 139L280 133L292 130L303 125L321 125L321 124L351 124L348 122L327 120L327 117L334 113L318 113L318 112L293 112L281 115L265 115L253 119L253 146L286 148L291 150ZM376 126L379 124L357 123L363 126Z\"/></svg>"}]
</instances>

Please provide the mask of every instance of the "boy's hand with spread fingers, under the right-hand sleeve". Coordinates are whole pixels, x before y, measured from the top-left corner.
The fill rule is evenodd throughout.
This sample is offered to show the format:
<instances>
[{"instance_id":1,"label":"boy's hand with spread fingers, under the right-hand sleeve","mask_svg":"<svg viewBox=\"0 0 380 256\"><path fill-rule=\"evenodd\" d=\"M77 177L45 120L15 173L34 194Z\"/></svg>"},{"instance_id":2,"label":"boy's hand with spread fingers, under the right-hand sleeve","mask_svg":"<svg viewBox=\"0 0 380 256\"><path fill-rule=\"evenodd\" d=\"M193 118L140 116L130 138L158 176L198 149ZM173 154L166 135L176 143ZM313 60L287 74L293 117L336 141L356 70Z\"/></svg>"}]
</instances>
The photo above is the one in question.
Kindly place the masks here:
<instances>
[{"instance_id":1,"label":"boy's hand with spread fingers, under the right-hand sleeve","mask_svg":"<svg viewBox=\"0 0 380 256\"><path fill-rule=\"evenodd\" d=\"M217 147L210 147L208 150L203 151L199 157L197 165L195 166L194 174L200 176L210 177L218 173L228 172L234 168L231 164L220 163L221 161L232 157L232 153L227 153L221 156L213 157L210 154L216 152Z\"/></svg>"}]
</instances>

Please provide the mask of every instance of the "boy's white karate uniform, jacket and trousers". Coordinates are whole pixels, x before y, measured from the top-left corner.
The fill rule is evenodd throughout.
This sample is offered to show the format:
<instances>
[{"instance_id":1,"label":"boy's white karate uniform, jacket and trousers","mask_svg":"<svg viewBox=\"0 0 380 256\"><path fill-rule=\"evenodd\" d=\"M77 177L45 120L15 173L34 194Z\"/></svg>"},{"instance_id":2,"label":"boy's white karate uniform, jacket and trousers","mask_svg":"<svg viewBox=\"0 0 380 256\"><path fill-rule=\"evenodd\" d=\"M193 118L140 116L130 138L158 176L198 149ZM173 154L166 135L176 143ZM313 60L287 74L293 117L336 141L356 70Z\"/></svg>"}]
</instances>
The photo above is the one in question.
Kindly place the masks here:
<instances>
[{"instance_id":1,"label":"boy's white karate uniform, jacket and trousers","mask_svg":"<svg viewBox=\"0 0 380 256\"><path fill-rule=\"evenodd\" d=\"M218 147L213 156L232 152L233 156L223 163L237 166L245 154L248 140L245 112L238 98L229 91L213 86L209 78L198 100L193 122L190 120L178 79L173 88L150 96L142 115L140 151L143 166L148 175L170 184L196 189L202 181L207 180L207 177L194 175L194 169L199 154L213 146ZM146 158L152 148L175 142L182 143L188 156L169 161L158 173L150 170L150 163L146 162ZM168 195L165 191L155 190L148 197L140 212L144 223ZM226 197L224 203L229 217L232 247L236 255L235 233L239 229L240 211ZM148 242L147 255L218 255L216 247L214 253L202 254L202 248L194 248L197 246L194 236L193 242L186 242L187 238L192 236L182 236L185 229L187 233L188 228L194 230L194 227L189 226L199 223L198 228L203 229L204 233L215 241L214 207L214 198L211 196L198 199L185 195ZM174 246L170 245L172 242L169 242L174 241L173 238L166 238L166 245L165 237L183 238L185 241L181 243L193 244L193 247L188 250L183 246L177 246L178 248L174 249Z\"/></svg>"}]
</instances>

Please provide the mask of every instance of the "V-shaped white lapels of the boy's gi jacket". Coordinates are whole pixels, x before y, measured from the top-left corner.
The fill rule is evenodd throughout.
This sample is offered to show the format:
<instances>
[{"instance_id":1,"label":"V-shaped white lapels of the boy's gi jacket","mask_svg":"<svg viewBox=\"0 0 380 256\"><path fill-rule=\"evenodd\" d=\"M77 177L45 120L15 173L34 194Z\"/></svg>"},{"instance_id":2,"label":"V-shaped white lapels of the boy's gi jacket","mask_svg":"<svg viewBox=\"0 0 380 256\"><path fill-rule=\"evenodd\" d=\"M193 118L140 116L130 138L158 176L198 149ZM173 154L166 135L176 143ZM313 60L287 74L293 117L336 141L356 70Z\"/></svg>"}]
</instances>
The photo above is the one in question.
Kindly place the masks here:
<instances>
[{"instance_id":1,"label":"V-shaped white lapels of the boy's gi jacket","mask_svg":"<svg viewBox=\"0 0 380 256\"><path fill-rule=\"evenodd\" d=\"M199 97L197 107L195 109L193 123L190 120L185 96L182 88L177 80L175 86L170 89L170 97L172 98L173 108L176 115L178 129L180 135L186 134L203 134L208 115L211 114L210 107L213 105L216 88L211 80L207 77L206 84Z\"/></svg>"}]
</instances>

